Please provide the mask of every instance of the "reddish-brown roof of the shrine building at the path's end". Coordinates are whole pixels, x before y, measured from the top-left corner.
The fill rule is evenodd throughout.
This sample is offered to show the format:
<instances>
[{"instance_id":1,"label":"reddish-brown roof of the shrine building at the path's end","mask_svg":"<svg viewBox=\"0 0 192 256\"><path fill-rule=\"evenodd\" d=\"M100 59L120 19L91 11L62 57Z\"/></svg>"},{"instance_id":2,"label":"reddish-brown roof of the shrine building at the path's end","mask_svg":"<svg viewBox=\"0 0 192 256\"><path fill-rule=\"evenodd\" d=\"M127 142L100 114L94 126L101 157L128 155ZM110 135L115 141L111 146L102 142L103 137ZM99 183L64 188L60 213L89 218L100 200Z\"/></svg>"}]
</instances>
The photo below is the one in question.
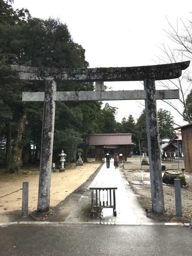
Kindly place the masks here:
<instances>
[{"instance_id":1,"label":"reddish-brown roof of the shrine building at the path's end","mask_svg":"<svg viewBox=\"0 0 192 256\"><path fill-rule=\"evenodd\" d=\"M130 133L116 134L92 134L90 135L90 145L131 145Z\"/></svg>"}]
</instances>

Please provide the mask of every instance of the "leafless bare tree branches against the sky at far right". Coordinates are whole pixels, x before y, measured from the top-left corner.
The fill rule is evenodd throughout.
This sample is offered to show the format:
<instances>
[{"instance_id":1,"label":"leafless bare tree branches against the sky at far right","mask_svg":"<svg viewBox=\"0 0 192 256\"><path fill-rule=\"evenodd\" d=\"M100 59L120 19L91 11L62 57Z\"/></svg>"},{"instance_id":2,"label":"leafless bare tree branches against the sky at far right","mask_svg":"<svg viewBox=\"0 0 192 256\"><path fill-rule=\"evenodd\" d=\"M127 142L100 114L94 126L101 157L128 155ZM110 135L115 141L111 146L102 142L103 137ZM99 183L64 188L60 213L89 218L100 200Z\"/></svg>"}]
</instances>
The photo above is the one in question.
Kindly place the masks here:
<instances>
[{"instance_id":1,"label":"leafless bare tree branches against the sky at far right","mask_svg":"<svg viewBox=\"0 0 192 256\"><path fill-rule=\"evenodd\" d=\"M167 17L166 17L167 19ZM182 30L179 29L179 21L182 25ZM168 24L170 25L170 29L167 33L167 37L176 43L178 48L170 48L165 44L161 44L159 48L162 50L162 55L159 56L159 61L161 63L176 63L180 61L184 61L186 59L192 59L192 22L188 20L188 25L185 25L183 20L176 20L176 26L171 25L169 20L167 19ZM190 68L182 72L182 76L178 79L174 80L164 80L159 81L158 86L162 86L167 89L179 89L180 99L179 101L182 103L184 107L183 113L177 108L177 106L173 105L171 101L165 101L168 105L170 105L173 109L175 109L185 121L191 122L190 114L188 113L188 108L186 105L186 97L190 92L190 87L192 83L192 72Z\"/></svg>"}]
</instances>

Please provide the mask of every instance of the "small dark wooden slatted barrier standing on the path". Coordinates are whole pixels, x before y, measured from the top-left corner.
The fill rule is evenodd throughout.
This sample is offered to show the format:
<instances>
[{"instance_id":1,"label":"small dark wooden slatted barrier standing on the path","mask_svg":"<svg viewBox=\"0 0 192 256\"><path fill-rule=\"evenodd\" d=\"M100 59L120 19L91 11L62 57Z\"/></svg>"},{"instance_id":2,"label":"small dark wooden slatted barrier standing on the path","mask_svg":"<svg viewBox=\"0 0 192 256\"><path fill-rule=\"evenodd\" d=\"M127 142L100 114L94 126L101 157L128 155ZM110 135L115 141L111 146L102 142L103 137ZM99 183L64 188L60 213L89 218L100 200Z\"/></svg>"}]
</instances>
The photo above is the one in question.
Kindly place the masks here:
<instances>
[{"instance_id":1,"label":"small dark wooden slatted barrier standing on the path","mask_svg":"<svg viewBox=\"0 0 192 256\"><path fill-rule=\"evenodd\" d=\"M115 190L117 188L89 188L89 189L92 189L91 216L94 216L94 207L97 207L97 208L113 208L113 215L116 217L117 212L116 212ZM111 193L112 190L113 190L113 196ZM94 195L95 195L95 205L94 205Z\"/></svg>"}]
</instances>

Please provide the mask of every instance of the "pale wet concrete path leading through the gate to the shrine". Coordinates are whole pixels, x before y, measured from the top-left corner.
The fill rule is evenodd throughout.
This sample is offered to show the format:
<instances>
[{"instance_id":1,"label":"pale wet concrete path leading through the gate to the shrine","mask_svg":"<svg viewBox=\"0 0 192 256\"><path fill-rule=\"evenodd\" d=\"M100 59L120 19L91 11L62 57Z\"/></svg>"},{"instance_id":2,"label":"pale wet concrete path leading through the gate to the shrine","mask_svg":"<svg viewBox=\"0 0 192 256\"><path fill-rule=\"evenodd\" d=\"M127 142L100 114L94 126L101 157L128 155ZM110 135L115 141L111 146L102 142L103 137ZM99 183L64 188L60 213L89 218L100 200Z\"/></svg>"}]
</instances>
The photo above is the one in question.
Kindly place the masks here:
<instances>
[{"instance_id":1,"label":"pale wet concrete path leading through the gate to the shrine","mask_svg":"<svg viewBox=\"0 0 192 256\"><path fill-rule=\"evenodd\" d=\"M113 208L103 208L100 212L90 214L88 218L83 218L82 214L87 212L85 209L91 210L91 190L89 187L106 188L117 187L116 190L116 210L117 217L113 216ZM82 213L82 214L81 214ZM129 182L125 180L122 170L115 169L113 160L111 160L110 168L106 164L102 166L95 179L88 186L88 189L80 197L75 208L67 216L65 222L95 222L95 223L110 223L110 224L135 224L140 222L154 222L154 220L146 217L146 211L138 201L133 190L129 186Z\"/></svg>"}]
</instances>

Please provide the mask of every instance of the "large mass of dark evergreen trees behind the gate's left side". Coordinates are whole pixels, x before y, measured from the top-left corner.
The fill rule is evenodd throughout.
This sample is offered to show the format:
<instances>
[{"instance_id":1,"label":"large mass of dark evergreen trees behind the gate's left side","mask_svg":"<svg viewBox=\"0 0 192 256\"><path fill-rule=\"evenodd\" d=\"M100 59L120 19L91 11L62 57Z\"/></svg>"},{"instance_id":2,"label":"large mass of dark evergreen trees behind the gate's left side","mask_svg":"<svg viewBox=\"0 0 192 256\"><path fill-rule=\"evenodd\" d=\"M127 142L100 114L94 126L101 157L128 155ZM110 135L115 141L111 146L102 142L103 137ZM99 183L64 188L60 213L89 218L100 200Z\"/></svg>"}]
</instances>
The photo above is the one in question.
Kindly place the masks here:
<instances>
[{"instance_id":1,"label":"large mass of dark evergreen trees behind the gate's left side","mask_svg":"<svg viewBox=\"0 0 192 256\"><path fill-rule=\"evenodd\" d=\"M66 24L62 24L58 19L49 18L44 21L32 18L28 10L14 11L8 1L1 0L0 7L0 137L6 139L9 149L12 148L4 162L8 165L8 172L14 172L20 169L22 162L13 162L14 159L21 159L23 147L27 146L27 143L33 143L33 148L40 149L41 144L43 103L22 102L22 92L43 92L44 82L24 83L10 70L9 65L78 68L88 67L88 62L85 60L85 50L73 42ZM57 85L57 91L93 89L93 83L65 82ZM20 120L24 122L24 116L25 123L21 123ZM70 128L73 134L81 134L85 140L89 133L100 130L97 118L102 118L99 102L57 102L55 130L62 133ZM82 140L78 141L82 143ZM54 147L59 149L59 143L55 139ZM30 153L31 163L37 163L39 156L34 150L31 157Z\"/></svg>"}]
</instances>

